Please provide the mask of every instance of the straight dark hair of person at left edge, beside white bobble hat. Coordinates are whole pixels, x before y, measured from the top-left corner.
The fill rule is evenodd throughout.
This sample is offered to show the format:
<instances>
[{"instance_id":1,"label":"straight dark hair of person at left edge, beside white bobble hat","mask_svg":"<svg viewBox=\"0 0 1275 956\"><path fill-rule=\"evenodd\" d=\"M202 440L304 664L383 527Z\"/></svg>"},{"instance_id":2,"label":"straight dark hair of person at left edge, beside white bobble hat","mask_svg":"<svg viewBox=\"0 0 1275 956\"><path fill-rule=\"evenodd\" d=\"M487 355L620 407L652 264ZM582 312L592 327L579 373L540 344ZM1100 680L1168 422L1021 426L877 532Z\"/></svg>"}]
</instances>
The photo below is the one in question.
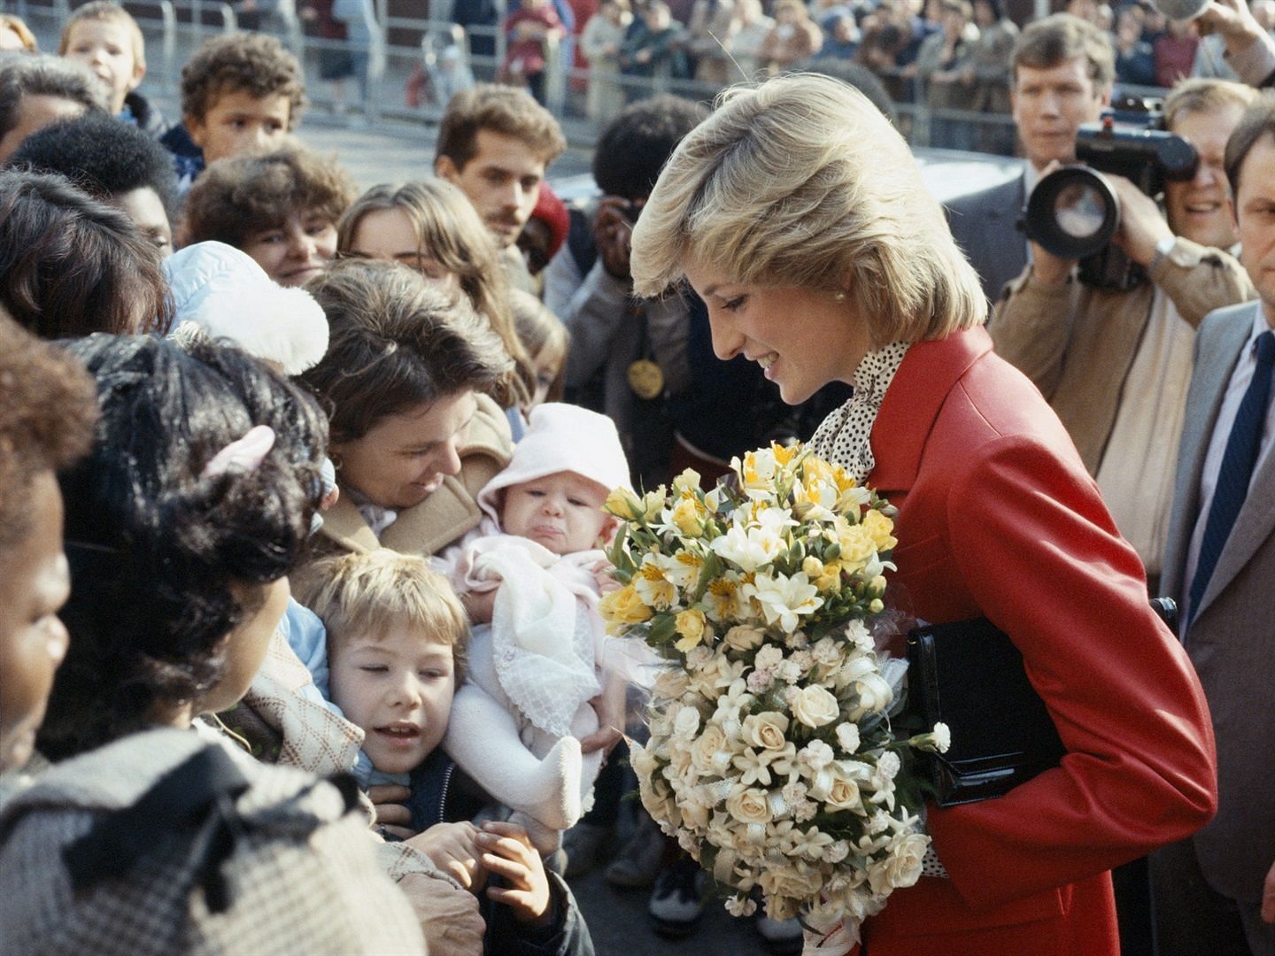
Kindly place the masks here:
<instances>
[{"instance_id":1,"label":"straight dark hair of person at left edge, beside white bobble hat","mask_svg":"<svg viewBox=\"0 0 1275 956\"><path fill-rule=\"evenodd\" d=\"M156 331L172 316L133 219L65 176L18 170L0 170L0 305L46 339Z\"/></svg>"}]
</instances>

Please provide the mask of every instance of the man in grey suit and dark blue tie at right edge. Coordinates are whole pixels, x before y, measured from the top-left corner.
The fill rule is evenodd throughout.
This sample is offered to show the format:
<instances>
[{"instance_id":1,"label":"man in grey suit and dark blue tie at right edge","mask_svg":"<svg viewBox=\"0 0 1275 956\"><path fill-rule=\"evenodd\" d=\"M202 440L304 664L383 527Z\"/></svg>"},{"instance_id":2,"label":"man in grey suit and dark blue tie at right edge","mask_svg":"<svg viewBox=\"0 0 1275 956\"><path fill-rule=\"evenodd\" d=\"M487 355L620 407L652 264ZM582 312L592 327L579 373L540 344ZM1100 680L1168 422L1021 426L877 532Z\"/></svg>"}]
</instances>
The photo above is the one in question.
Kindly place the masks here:
<instances>
[{"instance_id":1,"label":"man in grey suit and dark blue tie at right edge","mask_svg":"<svg viewBox=\"0 0 1275 956\"><path fill-rule=\"evenodd\" d=\"M1260 301L1200 326L1163 584L1213 711L1219 807L1151 857L1160 956L1275 956L1275 99L1225 166Z\"/></svg>"}]
</instances>

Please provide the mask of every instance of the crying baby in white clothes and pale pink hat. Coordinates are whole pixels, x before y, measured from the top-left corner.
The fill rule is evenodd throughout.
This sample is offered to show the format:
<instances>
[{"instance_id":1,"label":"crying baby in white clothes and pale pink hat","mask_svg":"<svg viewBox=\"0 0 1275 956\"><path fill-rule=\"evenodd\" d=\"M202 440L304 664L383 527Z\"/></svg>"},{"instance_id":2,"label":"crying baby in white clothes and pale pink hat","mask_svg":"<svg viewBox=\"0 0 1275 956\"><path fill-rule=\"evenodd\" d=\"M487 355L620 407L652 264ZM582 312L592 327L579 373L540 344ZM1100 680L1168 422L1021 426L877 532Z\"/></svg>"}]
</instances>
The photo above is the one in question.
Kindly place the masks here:
<instances>
[{"instance_id":1,"label":"crying baby in white clothes and pale pink hat","mask_svg":"<svg viewBox=\"0 0 1275 956\"><path fill-rule=\"evenodd\" d=\"M638 658L604 645L598 613L598 548L616 525L602 506L627 483L609 418L539 405L509 467L478 495L486 520L439 558L474 622L444 746L546 853L586 809L602 762L601 751L581 760L580 738L601 723L590 701L616 701L639 677Z\"/></svg>"}]
</instances>

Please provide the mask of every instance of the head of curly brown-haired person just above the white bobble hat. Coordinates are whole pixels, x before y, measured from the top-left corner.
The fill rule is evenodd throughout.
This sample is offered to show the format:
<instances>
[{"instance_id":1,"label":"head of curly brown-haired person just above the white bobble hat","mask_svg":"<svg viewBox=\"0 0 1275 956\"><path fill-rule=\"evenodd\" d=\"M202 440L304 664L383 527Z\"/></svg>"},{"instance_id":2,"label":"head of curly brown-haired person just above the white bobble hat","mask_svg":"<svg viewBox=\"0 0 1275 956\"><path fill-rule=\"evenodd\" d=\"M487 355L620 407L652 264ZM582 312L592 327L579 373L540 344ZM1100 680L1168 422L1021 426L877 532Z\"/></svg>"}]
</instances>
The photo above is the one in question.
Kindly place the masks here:
<instances>
[{"instance_id":1,"label":"head of curly brown-haired person just above the white bobble hat","mask_svg":"<svg viewBox=\"0 0 1275 956\"><path fill-rule=\"evenodd\" d=\"M337 254L356 187L335 157L297 144L213 163L186 198L182 245L224 242L280 286L303 286Z\"/></svg>"}]
</instances>

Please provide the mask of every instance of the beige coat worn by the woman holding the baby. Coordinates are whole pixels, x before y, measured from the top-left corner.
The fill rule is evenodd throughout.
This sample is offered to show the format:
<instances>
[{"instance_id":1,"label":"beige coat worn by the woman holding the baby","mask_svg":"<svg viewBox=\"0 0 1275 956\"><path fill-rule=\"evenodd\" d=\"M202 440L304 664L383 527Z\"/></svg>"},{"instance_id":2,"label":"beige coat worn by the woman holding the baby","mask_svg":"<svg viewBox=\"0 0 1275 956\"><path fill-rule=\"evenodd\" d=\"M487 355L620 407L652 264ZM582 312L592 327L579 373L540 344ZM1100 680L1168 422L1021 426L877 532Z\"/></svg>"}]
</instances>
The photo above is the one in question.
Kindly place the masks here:
<instances>
[{"instance_id":1,"label":"beige coat worn by the woman holding the baby","mask_svg":"<svg viewBox=\"0 0 1275 956\"><path fill-rule=\"evenodd\" d=\"M460 474L448 475L430 497L400 511L380 542L348 496L324 512L316 556L334 551L390 548L404 554L433 554L482 520L478 492L509 464L513 454L509 421L492 399L478 395L478 412L460 449ZM339 477L339 475L338 475Z\"/></svg>"}]
</instances>

